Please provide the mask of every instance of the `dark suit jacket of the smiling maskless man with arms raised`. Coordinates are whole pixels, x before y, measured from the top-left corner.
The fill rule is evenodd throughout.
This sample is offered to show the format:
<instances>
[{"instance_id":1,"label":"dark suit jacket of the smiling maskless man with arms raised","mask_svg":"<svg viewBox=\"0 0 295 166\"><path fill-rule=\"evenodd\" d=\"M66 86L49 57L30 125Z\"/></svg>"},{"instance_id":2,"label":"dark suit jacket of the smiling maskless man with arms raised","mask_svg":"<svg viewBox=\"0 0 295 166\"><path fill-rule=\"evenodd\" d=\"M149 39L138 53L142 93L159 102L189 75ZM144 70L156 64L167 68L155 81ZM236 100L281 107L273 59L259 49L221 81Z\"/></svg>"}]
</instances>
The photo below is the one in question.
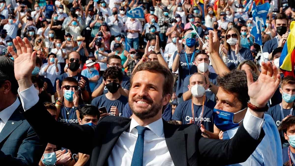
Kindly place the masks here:
<instances>
[{"instance_id":1,"label":"dark suit jacket of the smiling maskless man with arms raised","mask_svg":"<svg viewBox=\"0 0 295 166\"><path fill-rule=\"evenodd\" d=\"M60 123L52 118L41 103L24 112L24 116L40 139L91 154L92 166L108 165L107 160L114 145L122 132L130 127L131 121L130 118L106 116L99 120L97 126ZM258 140L255 140L241 125L232 139L217 140L202 137L200 129L194 124L175 126L163 121L163 127L166 144L176 166L244 162L265 135L261 129ZM75 135L76 139L67 139L70 135Z\"/></svg>"}]
</instances>

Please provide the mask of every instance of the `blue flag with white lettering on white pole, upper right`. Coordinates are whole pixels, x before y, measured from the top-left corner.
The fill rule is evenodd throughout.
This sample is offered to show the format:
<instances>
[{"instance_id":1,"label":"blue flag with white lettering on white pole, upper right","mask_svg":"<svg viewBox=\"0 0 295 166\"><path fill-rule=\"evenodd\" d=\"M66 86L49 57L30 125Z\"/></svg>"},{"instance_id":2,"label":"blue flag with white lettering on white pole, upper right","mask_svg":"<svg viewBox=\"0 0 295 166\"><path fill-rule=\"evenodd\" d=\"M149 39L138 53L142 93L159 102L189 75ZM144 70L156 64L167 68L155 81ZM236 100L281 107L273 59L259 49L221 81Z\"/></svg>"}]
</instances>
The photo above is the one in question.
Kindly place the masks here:
<instances>
[{"instance_id":1,"label":"blue flag with white lettering on white pole, upper right","mask_svg":"<svg viewBox=\"0 0 295 166\"><path fill-rule=\"evenodd\" d=\"M262 26L266 24L266 17L270 7L271 5L269 3L259 6L256 6L255 3L253 3L252 17L256 26L252 28L251 34L255 37L255 43L259 45L262 45L261 30Z\"/></svg>"}]
</instances>

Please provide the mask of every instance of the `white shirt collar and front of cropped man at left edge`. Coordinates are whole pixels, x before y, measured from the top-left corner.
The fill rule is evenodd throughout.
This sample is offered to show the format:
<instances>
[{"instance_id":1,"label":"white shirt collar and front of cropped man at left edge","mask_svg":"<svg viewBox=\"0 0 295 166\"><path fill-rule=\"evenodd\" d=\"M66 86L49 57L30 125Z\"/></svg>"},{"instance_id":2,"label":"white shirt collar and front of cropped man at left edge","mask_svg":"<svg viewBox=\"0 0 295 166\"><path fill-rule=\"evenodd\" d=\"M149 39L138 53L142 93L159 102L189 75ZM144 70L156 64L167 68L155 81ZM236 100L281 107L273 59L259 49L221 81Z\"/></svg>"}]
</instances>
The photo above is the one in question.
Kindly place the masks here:
<instances>
[{"instance_id":1,"label":"white shirt collar and front of cropped man at left edge","mask_svg":"<svg viewBox=\"0 0 295 166\"><path fill-rule=\"evenodd\" d=\"M7 123L8 119L10 118L12 113L17 109L19 104L20 104L19 99L16 98L16 100L14 101L12 105L0 111L0 134L5 124Z\"/></svg>"}]
</instances>

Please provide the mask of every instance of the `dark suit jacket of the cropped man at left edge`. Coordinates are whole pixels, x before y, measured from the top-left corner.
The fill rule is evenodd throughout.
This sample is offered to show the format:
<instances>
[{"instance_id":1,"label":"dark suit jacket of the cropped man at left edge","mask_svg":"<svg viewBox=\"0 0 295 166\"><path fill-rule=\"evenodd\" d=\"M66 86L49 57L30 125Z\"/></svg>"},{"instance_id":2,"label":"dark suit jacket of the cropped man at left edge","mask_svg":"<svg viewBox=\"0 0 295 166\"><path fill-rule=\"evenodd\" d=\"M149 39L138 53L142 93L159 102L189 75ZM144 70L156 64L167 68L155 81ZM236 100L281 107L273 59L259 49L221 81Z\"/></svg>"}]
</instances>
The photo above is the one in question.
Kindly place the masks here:
<instances>
[{"instance_id":1,"label":"dark suit jacket of the cropped man at left edge","mask_svg":"<svg viewBox=\"0 0 295 166\"><path fill-rule=\"evenodd\" d=\"M38 165L45 150L46 144L40 143L20 112L23 112L22 105L12 113L0 133L0 165Z\"/></svg>"}]
</instances>

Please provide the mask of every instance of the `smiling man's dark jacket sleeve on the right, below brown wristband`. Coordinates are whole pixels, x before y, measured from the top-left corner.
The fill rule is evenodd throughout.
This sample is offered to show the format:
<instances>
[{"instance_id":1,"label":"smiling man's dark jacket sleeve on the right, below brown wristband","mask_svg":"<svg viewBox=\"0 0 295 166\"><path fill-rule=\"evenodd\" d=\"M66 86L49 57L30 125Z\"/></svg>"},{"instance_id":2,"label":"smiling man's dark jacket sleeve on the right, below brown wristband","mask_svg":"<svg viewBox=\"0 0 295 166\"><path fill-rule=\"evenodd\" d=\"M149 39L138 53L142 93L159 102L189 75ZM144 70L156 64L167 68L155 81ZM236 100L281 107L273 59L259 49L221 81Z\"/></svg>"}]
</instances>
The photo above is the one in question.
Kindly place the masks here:
<instances>
[{"instance_id":1,"label":"smiling man's dark jacket sleeve on the right, below brown wristband","mask_svg":"<svg viewBox=\"0 0 295 166\"><path fill-rule=\"evenodd\" d=\"M204 162L204 165L230 165L245 162L254 152L264 135L265 133L261 129L258 139L253 139L244 128L244 125L241 125L235 136L229 140L201 137L198 140L201 161Z\"/></svg>"}]
</instances>

